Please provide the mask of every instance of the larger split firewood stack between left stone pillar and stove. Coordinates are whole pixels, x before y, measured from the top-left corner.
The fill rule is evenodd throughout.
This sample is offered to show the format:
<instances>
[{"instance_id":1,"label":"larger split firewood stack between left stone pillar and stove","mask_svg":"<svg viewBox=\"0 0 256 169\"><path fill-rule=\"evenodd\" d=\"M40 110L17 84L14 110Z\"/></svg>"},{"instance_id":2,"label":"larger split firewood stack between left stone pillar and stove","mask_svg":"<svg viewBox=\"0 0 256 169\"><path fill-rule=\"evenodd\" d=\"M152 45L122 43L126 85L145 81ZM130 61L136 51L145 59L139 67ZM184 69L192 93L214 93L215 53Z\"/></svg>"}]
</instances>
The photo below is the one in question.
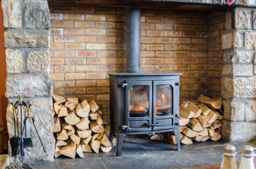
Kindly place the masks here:
<instances>
[{"instance_id":1,"label":"larger split firewood stack between left stone pillar and stove","mask_svg":"<svg viewBox=\"0 0 256 169\"><path fill-rule=\"evenodd\" d=\"M78 154L83 158L83 152L111 150L110 126L93 99L53 95L53 101L55 157L62 154L74 159Z\"/></svg>"}]
</instances>

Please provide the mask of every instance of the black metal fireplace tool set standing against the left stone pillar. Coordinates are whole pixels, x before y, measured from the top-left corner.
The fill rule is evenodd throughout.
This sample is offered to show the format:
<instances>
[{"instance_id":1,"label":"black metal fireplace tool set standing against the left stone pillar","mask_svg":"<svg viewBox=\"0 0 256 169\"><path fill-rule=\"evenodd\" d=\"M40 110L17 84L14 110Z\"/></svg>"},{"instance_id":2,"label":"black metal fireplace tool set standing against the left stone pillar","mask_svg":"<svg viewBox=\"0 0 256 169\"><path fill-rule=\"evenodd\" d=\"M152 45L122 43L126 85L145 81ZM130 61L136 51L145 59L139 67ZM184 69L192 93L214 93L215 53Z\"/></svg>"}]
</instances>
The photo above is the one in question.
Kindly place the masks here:
<instances>
[{"instance_id":1,"label":"black metal fireplace tool set standing against the left stone pillar","mask_svg":"<svg viewBox=\"0 0 256 169\"><path fill-rule=\"evenodd\" d=\"M33 126L36 130L36 134L42 144L44 152L46 152L45 147L41 141L41 138L37 132L35 119L30 116L31 104L26 104L26 102L22 101L23 92L20 92L20 98L16 103L11 103L12 111L13 111L13 120L14 120L14 136L10 138L10 146L11 146L11 154L15 156L15 162L17 162L18 155L21 157L21 162L23 163L24 156L24 148L33 147L33 142L31 137L27 137L26 131L26 123L28 119L32 120ZM23 108L23 109L22 109ZM22 114L24 114L24 120L22 121ZM20 124L19 124L19 116L20 116ZM23 122L23 124L22 124ZM19 131L20 126L20 131ZM17 128L17 132L16 132ZM25 131L25 138L23 138L23 134Z\"/></svg>"}]
</instances>

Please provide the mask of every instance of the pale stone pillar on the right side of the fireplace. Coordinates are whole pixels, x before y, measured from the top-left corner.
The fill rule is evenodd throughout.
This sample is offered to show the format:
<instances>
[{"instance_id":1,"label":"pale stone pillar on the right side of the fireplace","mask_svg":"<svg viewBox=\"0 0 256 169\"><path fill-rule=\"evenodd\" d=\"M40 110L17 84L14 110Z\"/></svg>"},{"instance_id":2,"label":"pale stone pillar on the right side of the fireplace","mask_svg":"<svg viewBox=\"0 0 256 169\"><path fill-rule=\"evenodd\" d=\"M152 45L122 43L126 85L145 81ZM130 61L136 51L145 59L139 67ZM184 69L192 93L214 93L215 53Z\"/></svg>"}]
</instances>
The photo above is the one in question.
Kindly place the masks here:
<instances>
[{"instance_id":1,"label":"pale stone pillar on the right side of the fireplace","mask_svg":"<svg viewBox=\"0 0 256 169\"><path fill-rule=\"evenodd\" d=\"M222 138L228 142L256 139L256 9L226 12L222 35L224 120Z\"/></svg>"}]
</instances>

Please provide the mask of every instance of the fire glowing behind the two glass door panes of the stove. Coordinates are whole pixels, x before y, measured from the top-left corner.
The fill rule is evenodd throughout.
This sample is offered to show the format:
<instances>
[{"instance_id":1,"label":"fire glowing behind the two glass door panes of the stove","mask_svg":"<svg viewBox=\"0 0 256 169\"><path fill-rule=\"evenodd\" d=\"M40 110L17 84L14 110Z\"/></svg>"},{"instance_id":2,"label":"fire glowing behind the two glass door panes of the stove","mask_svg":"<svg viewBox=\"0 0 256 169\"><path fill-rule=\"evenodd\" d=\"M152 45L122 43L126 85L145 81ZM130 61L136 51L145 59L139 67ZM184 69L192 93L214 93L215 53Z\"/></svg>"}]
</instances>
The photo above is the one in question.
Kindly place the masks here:
<instances>
[{"instance_id":1,"label":"fire glowing behind the two glass door panes of the stove","mask_svg":"<svg viewBox=\"0 0 256 169\"><path fill-rule=\"evenodd\" d=\"M155 114L156 116L172 115L172 87L170 85L156 85ZM129 90L129 116L148 116L149 86L137 85Z\"/></svg>"}]
</instances>

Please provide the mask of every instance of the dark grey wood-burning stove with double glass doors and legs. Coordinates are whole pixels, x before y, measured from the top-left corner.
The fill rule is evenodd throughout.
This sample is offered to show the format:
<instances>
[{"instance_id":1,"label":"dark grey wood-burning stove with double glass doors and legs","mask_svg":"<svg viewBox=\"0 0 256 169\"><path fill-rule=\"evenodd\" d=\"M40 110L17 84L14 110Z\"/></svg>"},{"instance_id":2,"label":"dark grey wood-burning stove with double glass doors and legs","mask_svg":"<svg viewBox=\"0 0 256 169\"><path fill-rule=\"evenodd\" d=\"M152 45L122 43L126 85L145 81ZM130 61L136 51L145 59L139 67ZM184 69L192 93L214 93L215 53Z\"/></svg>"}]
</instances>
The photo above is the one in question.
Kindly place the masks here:
<instances>
[{"instance_id":1,"label":"dark grey wood-burning stove with double glass doors and legs","mask_svg":"<svg viewBox=\"0 0 256 169\"><path fill-rule=\"evenodd\" d=\"M128 134L174 131L179 143L179 75L172 73L112 73L110 78L111 134L116 155Z\"/></svg>"}]
</instances>

